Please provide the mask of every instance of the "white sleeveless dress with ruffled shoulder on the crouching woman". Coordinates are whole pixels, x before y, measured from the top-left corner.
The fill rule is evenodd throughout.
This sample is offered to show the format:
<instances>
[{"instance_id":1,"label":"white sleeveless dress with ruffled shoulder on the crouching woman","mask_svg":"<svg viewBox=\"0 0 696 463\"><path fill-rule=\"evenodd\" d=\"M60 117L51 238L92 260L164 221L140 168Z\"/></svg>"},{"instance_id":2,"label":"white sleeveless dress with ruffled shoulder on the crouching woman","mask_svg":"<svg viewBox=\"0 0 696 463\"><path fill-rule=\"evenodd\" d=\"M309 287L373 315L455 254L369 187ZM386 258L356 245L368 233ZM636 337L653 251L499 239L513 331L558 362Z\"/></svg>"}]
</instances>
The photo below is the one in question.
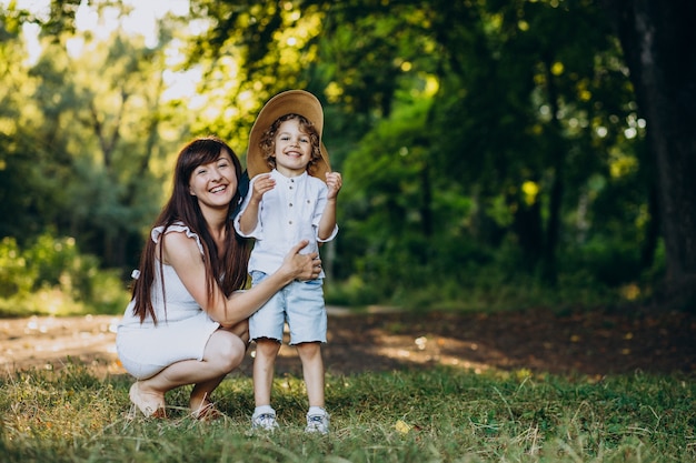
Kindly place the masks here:
<instances>
[{"instance_id":1,"label":"white sleeveless dress with ruffled shoulder on the crouching woman","mask_svg":"<svg viewBox=\"0 0 696 463\"><path fill-rule=\"evenodd\" d=\"M152 241L157 243L162 231L163 227L155 228L150 233ZM183 223L170 225L167 233L186 233L196 240L202 254L198 234ZM158 262L151 296L157 325L150 318L140 323L140 318L132 313L133 301L126 308L118 325L116 349L119 360L126 371L138 380L151 378L182 360L202 360L210 335L220 326L198 305L171 265L163 265L163 274L166 311Z\"/></svg>"}]
</instances>

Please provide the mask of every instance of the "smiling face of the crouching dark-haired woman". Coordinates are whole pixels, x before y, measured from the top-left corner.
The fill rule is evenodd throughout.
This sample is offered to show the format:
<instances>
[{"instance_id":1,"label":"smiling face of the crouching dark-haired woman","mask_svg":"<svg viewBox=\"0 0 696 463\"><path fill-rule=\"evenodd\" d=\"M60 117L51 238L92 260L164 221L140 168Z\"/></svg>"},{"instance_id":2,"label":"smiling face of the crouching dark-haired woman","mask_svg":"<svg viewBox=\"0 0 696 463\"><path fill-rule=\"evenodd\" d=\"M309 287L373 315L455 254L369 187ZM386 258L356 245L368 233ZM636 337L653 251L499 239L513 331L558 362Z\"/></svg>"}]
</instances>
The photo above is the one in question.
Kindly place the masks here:
<instances>
[{"instance_id":1,"label":"smiling face of the crouching dark-haired woman","mask_svg":"<svg viewBox=\"0 0 696 463\"><path fill-rule=\"evenodd\" d=\"M201 205L228 208L237 192L237 172L230 154L221 150L217 160L193 169L189 192Z\"/></svg>"}]
</instances>

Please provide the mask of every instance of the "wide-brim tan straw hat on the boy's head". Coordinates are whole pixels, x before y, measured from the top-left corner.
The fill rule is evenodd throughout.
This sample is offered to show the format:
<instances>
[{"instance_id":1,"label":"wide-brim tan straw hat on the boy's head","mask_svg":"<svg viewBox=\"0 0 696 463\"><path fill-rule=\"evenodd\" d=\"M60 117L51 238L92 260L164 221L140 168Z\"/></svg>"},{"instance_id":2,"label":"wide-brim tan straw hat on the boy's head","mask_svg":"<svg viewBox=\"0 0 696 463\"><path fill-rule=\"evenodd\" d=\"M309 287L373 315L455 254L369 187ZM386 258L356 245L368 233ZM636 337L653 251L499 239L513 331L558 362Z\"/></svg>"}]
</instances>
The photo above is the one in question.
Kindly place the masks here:
<instances>
[{"instance_id":1,"label":"wide-brim tan straw hat on the boy's head","mask_svg":"<svg viewBox=\"0 0 696 463\"><path fill-rule=\"evenodd\" d=\"M264 159L260 147L261 137L278 118L286 114L299 114L310 121L319 134L319 145L321 147L321 159L316 162L309 174L326 182L326 173L331 171L329 164L329 152L321 141L324 131L324 110L321 103L314 94L305 90L288 90L278 93L264 105L256 118L251 132L249 132L249 148L247 149L247 172L249 179L259 173L270 172L270 167Z\"/></svg>"}]
</instances>

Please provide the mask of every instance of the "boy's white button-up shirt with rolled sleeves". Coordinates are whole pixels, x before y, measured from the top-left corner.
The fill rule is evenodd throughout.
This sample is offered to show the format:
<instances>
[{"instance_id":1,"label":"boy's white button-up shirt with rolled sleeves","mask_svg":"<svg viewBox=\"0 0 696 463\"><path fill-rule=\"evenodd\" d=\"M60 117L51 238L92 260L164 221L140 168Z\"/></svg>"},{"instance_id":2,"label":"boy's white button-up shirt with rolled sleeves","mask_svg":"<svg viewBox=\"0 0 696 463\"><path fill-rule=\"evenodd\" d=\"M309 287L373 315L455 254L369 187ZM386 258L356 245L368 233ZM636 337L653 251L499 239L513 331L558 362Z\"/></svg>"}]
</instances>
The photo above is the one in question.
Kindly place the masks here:
<instances>
[{"instance_id":1,"label":"boy's white button-up shirt with rolled sleeves","mask_svg":"<svg viewBox=\"0 0 696 463\"><path fill-rule=\"evenodd\" d=\"M309 240L302 253L318 252L320 242L331 241L338 233L338 225L326 240L318 236L319 221L327 203L328 188L321 180L307 172L287 178L277 170L270 175L276 187L266 192L259 203L256 228L245 234L239 227L239 218L247 210L251 199L256 175L249 182L249 193L235 217L235 230L241 236L256 240L249 259L249 272L259 270L274 273L282 263L288 251L301 240ZM324 278L324 271L319 278Z\"/></svg>"}]
</instances>

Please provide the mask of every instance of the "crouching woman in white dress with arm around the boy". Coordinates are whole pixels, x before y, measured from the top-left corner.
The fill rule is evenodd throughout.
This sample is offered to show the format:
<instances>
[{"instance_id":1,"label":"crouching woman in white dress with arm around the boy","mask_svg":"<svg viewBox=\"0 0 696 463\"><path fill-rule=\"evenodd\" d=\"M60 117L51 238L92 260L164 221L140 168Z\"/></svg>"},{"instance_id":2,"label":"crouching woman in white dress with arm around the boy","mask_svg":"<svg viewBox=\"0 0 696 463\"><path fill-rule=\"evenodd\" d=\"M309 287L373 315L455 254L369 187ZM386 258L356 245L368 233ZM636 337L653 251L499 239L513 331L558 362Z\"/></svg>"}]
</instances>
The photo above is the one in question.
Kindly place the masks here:
<instances>
[{"instance_id":1,"label":"crouching woman in white dress with arm around the boy","mask_svg":"<svg viewBox=\"0 0 696 463\"><path fill-rule=\"evenodd\" d=\"M163 417L166 392L187 384L195 384L192 415L217 414L210 394L243 360L249 315L286 284L321 272L316 252L299 254L301 242L264 284L238 291L248 250L229 217L240 177L239 159L217 138L191 141L177 159L171 198L142 252L116 339L123 368L138 380L130 400L146 416Z\"/></svg>"}]
</instances>

